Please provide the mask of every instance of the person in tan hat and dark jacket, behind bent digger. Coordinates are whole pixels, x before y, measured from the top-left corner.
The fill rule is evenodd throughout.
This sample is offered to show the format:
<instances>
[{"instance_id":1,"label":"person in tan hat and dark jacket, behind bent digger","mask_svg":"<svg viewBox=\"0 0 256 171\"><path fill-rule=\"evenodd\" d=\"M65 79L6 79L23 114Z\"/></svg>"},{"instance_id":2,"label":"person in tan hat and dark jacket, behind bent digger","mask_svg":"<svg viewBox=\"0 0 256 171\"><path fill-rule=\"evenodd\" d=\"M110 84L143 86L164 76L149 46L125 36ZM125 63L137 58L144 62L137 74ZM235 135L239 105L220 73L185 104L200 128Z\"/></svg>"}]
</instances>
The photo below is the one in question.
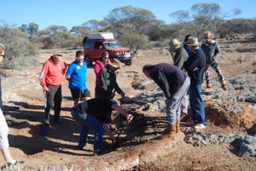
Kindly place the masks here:
<instances>
[{"instance_id":1,"label":"person in tan hat and dark jacket, behind bent digger","mask_svg":"<svg viewBox=\"0 0 256 171\"><path fill-rule=\"evenodd\" d=\"M110 60L109 64L102 68L99 73L99 81L96 85L96 97L105 97L108 99L113 99L115 93L113 90L117 91L122 97L125 97L124 91L119 88L116 82L115 71L121 67L119 60Z\"/></svg>"}]
</instances>

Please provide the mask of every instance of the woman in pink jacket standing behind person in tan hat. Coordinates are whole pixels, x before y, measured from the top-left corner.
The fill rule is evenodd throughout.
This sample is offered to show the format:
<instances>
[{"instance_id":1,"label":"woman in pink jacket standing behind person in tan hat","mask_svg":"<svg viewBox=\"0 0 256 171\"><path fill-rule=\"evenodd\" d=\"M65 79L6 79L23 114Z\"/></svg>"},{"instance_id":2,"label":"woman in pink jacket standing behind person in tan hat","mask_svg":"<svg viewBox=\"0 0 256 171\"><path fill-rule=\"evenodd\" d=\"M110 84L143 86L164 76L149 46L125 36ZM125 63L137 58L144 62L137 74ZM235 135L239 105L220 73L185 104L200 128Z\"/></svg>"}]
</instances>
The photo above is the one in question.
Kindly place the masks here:
<instances>
[{"instance_id":1,"label":"woman in pink jacket standing behind person in tan hat","mask_svg":"<svg viewBox=\"0 0 256 171\"><path fill-rule=\"evenodd\" d=\"M96 64L94 66L94 71L96 74L96 84L99 80L99 73L102 70L103 67L109 64L109 59L108 59L108 52L104 51L101 55L101 58L99 60L96 60Z\"/></svg>"}]
</instances>

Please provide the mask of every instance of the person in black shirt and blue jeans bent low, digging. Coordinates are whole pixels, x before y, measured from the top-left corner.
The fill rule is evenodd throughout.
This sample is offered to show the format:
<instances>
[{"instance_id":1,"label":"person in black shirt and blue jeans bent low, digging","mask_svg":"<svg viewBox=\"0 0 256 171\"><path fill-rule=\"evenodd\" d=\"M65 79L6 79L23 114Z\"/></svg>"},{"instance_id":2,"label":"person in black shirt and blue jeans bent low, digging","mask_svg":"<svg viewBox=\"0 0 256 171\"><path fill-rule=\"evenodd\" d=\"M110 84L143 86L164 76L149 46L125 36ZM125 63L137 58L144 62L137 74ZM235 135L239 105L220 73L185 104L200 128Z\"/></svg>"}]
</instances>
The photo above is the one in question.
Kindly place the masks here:
<instances>
[{"instance_id":1,"label":"person in black shirt and blue jeans bent low, digging","mask_svg":"<svg viewBox=\"0 0 256 171\"><path fill-rule=\"evenodd\" d=\"M108 114L113 110L119 111L119 113L126 117L128 122L131 122L133 118L131 114L126 113L113 100L106 98L86 100L73 107L71 111L72 116L83 124L79 137L80 149L86 145L89 128L92 128L94 133L94 152L95 154L102 152L102 123L109 123Z\"/></svg>"}]
</instances>

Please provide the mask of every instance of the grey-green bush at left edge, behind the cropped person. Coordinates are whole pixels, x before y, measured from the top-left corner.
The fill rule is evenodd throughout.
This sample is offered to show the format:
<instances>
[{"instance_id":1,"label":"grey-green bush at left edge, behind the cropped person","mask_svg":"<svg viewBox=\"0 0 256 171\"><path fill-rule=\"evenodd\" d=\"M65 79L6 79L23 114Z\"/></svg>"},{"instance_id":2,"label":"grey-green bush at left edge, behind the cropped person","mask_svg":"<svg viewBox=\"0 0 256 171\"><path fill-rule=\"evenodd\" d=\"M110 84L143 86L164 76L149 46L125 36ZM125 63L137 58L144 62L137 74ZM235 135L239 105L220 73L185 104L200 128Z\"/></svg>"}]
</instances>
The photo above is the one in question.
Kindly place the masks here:
<instances>
[{"instance_id":1,"label":"grey-green bush at left edge, behind the cropped person","mask_svg":"<svg viewBox=\"0 0 256 171\"><path fill-rule=\"evenodd\" d=\"M20 29L0 27L0 43L6 47L6 58L1 64L3 68L19 69L21 66L31 66L37 62L38 49Z\"/></svg>"}]
</instances>

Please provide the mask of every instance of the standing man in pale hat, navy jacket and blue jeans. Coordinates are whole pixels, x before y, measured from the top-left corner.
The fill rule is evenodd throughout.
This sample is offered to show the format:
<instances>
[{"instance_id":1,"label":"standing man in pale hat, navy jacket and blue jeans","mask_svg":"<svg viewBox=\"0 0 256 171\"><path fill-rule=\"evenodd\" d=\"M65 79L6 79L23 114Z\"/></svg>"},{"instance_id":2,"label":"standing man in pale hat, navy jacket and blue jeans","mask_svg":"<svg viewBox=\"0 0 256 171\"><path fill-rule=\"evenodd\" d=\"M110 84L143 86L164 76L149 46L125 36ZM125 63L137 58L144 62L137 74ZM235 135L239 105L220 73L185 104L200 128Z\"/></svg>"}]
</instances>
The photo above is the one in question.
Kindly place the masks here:
<instances>
[{"instance_id":1,"label":"standing man in pale hat, navy jacket and blue jeans","mask_svg":"<svg viewBox=\"0 0 256 171\"><path fill-rule=\"evenodd\" d=\"M197 37L189 37L187 45L191 50L191 54L189 54L189 59L185 62L184 67L188 71L191 81L189 102L193 119L193 123L189 123L188 126L202 129L206 128L204 103L201 99L201 85L206 69L206 54L199 48Z\"/></svg>"}]
</instances>

